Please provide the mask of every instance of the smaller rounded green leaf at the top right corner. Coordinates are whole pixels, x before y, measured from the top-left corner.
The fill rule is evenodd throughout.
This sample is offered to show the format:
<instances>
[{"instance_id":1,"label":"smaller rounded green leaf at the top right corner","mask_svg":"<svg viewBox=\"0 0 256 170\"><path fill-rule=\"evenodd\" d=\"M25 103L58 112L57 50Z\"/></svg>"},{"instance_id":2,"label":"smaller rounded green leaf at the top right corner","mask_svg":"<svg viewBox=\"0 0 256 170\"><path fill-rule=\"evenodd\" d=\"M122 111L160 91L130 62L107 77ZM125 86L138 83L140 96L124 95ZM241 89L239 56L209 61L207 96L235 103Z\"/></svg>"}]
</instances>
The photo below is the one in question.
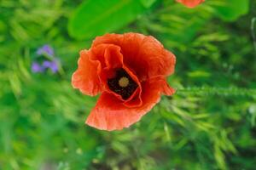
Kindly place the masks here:
<instances>
[{"instance_id":1,"label":"smaller rounded green leaf at the top right corner","mask_svg":"<svg viewBox=\"0 0 256 170\"><path fill-rule=\"evenodd\" d=\"M218 0L212 4L216 14L225 21L237 20L249 10L249 0Z\"/></svg>"}]
</instances>

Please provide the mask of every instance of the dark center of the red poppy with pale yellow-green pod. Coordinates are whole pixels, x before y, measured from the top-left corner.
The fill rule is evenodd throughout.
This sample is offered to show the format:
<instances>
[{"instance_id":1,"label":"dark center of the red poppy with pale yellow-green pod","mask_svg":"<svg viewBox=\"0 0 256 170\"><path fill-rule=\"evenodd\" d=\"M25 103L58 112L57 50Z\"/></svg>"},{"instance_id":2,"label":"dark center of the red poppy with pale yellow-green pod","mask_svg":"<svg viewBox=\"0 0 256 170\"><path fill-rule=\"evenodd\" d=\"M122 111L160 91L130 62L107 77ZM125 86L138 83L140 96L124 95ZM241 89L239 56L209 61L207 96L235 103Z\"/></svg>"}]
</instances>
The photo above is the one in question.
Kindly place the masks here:
<instances>
[{"instance_id":1,"label":"dark center of the red poppy with pale yellow-green pod","mask_svg":"<svg viewBox=\"0 0 256 170\"><path fill-rule=\"evenodd\" d=\"M119 69L116 71L115 77L108 79L108 88L121 95L122 99L128 99L137 89L137 83L124 69Z\"/></svg>"}]
</instances>

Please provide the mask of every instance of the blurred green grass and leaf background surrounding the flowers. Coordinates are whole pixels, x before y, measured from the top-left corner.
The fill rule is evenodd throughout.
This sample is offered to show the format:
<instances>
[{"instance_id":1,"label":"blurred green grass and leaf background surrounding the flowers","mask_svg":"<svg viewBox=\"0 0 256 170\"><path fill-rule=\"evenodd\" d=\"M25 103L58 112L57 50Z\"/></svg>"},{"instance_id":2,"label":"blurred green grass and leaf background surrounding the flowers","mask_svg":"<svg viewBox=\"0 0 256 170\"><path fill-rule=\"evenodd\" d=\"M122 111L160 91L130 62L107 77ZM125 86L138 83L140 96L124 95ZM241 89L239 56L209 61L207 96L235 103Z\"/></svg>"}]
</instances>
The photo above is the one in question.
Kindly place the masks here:
<instances>
[{"instance_id":1,"label":"blurred green grass and leaf background surrounding the flowers","mask_svg":"<svg viewBox=\"0 0 256 170\"><path fill-rule=\"evenodd\" d=\"M254 0L0 0L0 169L256 169ZM153 35L177 56L177 89L140 122L84 125L96 98L71 86L94 37ZM49 44L61 68L32 71Z\"/></svg>"}]
</instances>

